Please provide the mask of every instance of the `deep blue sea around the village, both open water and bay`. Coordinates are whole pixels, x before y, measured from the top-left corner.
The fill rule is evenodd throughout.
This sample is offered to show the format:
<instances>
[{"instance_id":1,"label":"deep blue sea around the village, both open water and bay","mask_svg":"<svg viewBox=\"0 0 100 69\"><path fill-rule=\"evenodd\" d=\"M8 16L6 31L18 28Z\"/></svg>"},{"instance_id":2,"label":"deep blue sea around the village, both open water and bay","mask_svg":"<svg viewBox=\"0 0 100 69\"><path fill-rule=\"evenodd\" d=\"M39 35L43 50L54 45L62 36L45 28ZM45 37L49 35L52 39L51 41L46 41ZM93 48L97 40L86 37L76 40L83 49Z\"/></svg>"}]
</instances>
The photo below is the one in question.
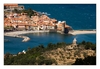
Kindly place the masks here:
<instances>
[{"instance_id":1,"label":"deep blue sea around the village, both open water and bay","mask_svg":"<svg viewBox=\"0 0 100 69\"><path fill-rule=\"evenodd\" d=\"M58 21L66 21L74 30L96 29L96 4L19 4L25 9L32 9L39 13L45 13L50 18ZM22 38L4 36L4 54L17 54L28 48L38 45L45 47L49 43L66 42L72 43L77 39L77 43L89 41L96 44L96 34L66 35L59 33L33 33L24 34L30 37L28 42L22 42Z\"/></svg>"}]
</instances>

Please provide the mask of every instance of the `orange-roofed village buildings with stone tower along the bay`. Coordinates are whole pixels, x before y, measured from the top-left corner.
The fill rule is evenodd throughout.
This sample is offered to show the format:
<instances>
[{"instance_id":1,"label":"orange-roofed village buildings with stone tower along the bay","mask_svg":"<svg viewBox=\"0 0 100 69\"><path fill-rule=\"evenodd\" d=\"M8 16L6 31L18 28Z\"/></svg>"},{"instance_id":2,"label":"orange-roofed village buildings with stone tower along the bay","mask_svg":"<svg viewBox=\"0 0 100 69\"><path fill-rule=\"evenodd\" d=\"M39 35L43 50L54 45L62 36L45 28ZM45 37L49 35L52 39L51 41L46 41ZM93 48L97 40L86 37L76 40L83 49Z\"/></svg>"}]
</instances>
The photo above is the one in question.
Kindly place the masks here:
<instances>
[{"instance_id":1,"label":"orange-roofed village buildings with stone tower along the bay","mask_svg":"<svg viewBox=\"0 0 100 69\"><path fill-rule=\"evenodd\" d=\"M18 4L4 4L4 8L5 10L10 9L10 13L5 14L4 26L11 26L14 30L49 30L50 32L68 33L72 29L66 24L66 21L57 21L45 14L31 16L30 18L27 13L13 13L11 10L24 9L24 6L19 6Z\"/></svg>"}]
</instances>

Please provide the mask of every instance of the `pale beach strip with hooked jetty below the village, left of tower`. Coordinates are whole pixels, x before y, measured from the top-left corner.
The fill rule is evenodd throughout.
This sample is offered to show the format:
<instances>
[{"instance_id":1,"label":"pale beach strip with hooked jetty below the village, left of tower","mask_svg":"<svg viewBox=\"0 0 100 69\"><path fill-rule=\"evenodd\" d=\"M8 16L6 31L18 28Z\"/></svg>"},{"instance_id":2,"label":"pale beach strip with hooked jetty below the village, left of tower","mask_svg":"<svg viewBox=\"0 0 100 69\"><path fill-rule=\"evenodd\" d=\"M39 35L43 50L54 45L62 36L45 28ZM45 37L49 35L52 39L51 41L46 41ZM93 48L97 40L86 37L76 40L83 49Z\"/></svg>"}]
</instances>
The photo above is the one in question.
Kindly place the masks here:
<instances>
[{"instance_id":1,"label":"pale beach strip with hooked jetty below the village, left of tower","mask_svg":"<svg viewBox=\"0 0 100 69\"><path fill-rule=\"evenodd\" d=\"M30 38L27 36L23 36L21 34L39 33L39 32L49 32L49 31L48 30L47 31L15 31L15 32L6 32L4 33L4 36L23 38L22 42L27 42L30 40Z\"/></svg>"}]
</instances>

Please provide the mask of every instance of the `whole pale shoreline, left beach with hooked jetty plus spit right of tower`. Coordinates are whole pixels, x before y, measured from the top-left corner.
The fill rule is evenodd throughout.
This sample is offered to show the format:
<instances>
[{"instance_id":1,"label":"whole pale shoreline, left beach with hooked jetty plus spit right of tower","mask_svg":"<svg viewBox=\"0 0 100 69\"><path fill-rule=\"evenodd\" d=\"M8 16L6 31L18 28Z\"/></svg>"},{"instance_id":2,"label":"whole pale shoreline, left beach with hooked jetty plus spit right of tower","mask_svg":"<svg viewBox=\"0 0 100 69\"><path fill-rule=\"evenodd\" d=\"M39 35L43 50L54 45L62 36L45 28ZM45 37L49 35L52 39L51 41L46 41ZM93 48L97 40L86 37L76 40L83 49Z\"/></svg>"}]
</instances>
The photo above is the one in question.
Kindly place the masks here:
<instances>
[{"instance_id":1,"label":"whole pale shoreline, left beach with hooked jetty plus spit right of tower","mask_svg":"<svg viewBox=\"0 0 100 69\"><path fill-rule=\"evenodd\" d=\"M42 30L42 31L15 31L15 32L5 32L4 36L10 36L10 37L17 37L17 38L23 38L22 42L27 42L30 40L29 37L23 36L21 34L29 34L29 33L44 33L44 32L50 32L49 30ZM68 34L71 35L78 35L78 34L96 34L95 30L74 30L70 31Z\"/></svg>"}]
</instances>

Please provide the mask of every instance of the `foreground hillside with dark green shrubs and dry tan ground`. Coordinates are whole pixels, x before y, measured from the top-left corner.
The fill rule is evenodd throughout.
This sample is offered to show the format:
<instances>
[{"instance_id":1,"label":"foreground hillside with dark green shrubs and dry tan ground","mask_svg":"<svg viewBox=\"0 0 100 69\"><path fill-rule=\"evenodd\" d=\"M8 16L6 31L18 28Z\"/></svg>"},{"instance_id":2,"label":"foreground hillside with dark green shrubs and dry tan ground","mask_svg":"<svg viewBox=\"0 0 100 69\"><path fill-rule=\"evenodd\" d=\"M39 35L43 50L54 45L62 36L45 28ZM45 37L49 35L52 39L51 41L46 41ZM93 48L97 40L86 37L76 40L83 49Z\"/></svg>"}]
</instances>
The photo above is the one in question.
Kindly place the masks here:
<instances>
[{"instance_id":1,"label":"foreground hillside with dark green shrubs and dry tan ground","mask_svg":"<svg viewBox=\"0 0 100 69\"><path fill-rule=\"evenodd\" d=\"M49 43L46 47L39 45L35 48L28 48L26 54L6 53L4 65L77 65L79 60L82 60L80 64L84 65L92 59L93 63L91 61L86 65L96 65L96 58L91 58L96 57L96 44L83 41L77 47L68 49L71 45L64 42ZM88 60L88 57L91 59Z\"/></svg>"}]
</instances>

